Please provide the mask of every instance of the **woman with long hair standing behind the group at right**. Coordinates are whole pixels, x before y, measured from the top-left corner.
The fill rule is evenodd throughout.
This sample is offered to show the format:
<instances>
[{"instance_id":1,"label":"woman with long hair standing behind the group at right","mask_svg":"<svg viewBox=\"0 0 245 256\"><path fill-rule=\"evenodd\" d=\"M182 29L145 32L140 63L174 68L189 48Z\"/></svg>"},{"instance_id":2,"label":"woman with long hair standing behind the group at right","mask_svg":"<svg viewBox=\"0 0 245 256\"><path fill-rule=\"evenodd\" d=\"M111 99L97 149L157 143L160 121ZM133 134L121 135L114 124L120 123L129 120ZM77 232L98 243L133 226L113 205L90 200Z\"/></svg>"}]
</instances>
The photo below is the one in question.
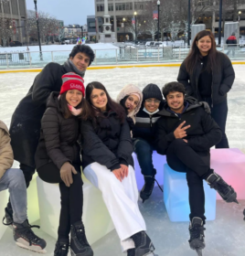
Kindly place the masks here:
<instances>
[{"instance_id":1,"label":"woman with long hair standing behind the group at right","mask_svg":"<svg viewBox=\"0 0 245 256\"><path fill-rule=\"evenodd\" d=\"M192 48L181 64L177 80L186 88L186 94L198 101L207 101L211 116L222 131L217 148L228 148L225 133L228 114L227 93L235 79L229 58L216 49L215 37L209 31L200 31Z\"/></svg>"}]
</instances>

